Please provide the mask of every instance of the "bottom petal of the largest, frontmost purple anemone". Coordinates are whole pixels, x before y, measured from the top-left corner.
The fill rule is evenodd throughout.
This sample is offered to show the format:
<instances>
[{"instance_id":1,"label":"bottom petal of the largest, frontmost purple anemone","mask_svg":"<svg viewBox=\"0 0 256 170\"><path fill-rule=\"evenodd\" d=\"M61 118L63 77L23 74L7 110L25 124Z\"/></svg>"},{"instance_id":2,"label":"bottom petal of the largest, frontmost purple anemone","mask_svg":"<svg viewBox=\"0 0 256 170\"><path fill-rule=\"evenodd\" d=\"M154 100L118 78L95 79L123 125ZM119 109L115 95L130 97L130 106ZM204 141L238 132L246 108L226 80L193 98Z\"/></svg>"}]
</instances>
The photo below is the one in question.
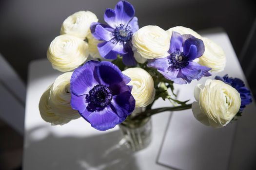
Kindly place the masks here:
<instances>
[{"instance_id":1,"label":"bottom petal of the largest, frontmost purple anemone","mask_svg":"<svg viewBox=\"0 0 256 170\"><path fill-rule=\"evenodd\" d=\"M99 131L112 129L119 123L118 115L110 107L106 107L100 112L93 112L84 118Z\"/></svg>"}]
</instances>

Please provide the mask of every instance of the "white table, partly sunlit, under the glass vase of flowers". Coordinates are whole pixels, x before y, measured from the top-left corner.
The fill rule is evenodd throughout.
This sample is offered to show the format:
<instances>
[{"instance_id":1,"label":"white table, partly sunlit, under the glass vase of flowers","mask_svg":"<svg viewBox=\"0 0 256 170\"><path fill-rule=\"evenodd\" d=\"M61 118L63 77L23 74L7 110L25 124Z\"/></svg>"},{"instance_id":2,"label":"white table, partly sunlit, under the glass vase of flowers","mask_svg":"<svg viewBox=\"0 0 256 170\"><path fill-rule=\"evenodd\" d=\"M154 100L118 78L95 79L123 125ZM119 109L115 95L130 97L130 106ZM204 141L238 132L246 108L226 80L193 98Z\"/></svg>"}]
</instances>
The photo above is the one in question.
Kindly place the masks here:
<instances>
[{"instance_id":1,"label":"white table, partly sunlit, under the glass vase of flowers","mask_svg":"<svg viewBox=\"0 0 256 170\"><path fill-rule=\"evenodd\" d=\"M225 33L205 36L223 47L227 54L226 72L229 72L230 76L245 80L228 36ZM82 118L72 120L63 126L51 126L50 123L44 122L39 115L39 98L60 74L46 59L34 61L30 65L23 170L170 170L157 163L164 131L171 116L169 112L153 116L152 143L148 148L137 153L119 146L121 135L118 126L112 130L100 132L90 127L90 124ZM205 79L203 78L202 81ZM193 93L194 85L188 85L186 88L191 88L190 92ZM194 101L194 99L191 100ZM154 107L169 105L167 101L158 100ZM246 109L256 110L253 104ZM250 112L244 114L237 122L230 170L242 170L255 166L255 121L256 113Z\"/></svg>"}]
</instances>

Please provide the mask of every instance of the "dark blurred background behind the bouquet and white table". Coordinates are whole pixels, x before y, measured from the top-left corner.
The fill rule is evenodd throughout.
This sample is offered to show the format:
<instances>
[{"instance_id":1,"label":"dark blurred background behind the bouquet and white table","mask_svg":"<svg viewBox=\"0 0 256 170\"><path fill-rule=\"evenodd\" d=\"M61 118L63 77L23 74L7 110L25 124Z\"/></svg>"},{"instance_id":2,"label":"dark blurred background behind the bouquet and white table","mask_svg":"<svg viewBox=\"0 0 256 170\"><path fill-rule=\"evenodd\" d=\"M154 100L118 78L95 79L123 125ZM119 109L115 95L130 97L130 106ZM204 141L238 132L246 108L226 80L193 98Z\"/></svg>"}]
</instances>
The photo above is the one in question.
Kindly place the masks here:
<instances>
[{"instance_id":1,"label":"dark blurred background behind the bouquet and white table","mask_svg":"<svg viewBox=\"0 0 256 170\"><path fill-rule=\"evenodd\" d=\"M136 9L139 26L190 27L195 31L220 27L230 37L249 85L256 94L256 0L129 0ZM0 53L13 66L24 83L30 61L46 58L47 47L59 35L63 20L79 10L94 12L103 22L106 8L118 0L0 0ZM1 125L1 122L0 122ZM0 132L12 137L19 148L8 154L10 161L21 157L22 136L6 126ZM1 143L4 147L11 144ZM1 149L0 146L0 149ZM18 159L19 162L21 160ZM13 161L15 162L15 161ZM11 164L11 163L10 163ZM1 166L0 166L1 169Z\"/></svg>"}]
</instances>

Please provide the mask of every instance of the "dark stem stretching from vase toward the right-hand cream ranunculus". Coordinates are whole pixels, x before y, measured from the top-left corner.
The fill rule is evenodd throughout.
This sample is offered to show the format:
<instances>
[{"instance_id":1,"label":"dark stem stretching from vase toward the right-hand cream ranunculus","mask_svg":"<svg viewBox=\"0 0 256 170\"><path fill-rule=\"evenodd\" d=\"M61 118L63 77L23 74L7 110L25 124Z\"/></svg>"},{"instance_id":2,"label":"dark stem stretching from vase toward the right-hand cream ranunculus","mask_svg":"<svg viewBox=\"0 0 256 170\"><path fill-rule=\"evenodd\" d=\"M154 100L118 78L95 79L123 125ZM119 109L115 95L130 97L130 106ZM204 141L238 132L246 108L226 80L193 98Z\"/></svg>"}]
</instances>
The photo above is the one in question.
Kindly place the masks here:
<instances>
[{"instance_id":1,"label":"dark stem stretching from vase toward the right-hand cream ranunculus","mask_svg":"<svg viewBox=\"0 0 256 170\"><path fill-rule=\"evenodd\" d=\"M162 108L157 108L152 110L147 109L144 112L141 112L138 115L131 117L131 120L145 119L147 117L150 117L160 112L186 110L186 109L191 109L191 107L192 107L192 104L184 104L184 105L175 106L175 107L162 107Z\"/></svg>"}]
</instances>

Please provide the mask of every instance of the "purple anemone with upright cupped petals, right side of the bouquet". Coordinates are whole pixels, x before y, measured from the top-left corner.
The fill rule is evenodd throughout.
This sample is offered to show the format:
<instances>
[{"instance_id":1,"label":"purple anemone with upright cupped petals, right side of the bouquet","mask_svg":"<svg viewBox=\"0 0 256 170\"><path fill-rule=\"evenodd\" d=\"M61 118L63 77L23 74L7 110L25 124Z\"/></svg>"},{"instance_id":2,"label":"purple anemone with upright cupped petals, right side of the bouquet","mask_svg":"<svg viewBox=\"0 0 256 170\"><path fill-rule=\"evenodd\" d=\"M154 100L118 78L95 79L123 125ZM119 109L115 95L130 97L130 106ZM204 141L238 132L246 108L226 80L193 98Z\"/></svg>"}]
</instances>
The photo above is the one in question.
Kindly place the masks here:
<instances>
[{"instance_id":1,"label":"purple anemone with upright cupped petals, right side of the bouquet","mask_svg":"<svg viewBox=\"0 0 256 170\"><path fill-rule=\"evenodd\" d=\"M190 35L181 35L173 32L171 37L170 53L166 58L151 59L148 66L157 68L166 79L176 84L191 83L194 79L210 76L211 68L201 66L194 62L204 53L203 41Z\"/></svg>"}]
</instances>

